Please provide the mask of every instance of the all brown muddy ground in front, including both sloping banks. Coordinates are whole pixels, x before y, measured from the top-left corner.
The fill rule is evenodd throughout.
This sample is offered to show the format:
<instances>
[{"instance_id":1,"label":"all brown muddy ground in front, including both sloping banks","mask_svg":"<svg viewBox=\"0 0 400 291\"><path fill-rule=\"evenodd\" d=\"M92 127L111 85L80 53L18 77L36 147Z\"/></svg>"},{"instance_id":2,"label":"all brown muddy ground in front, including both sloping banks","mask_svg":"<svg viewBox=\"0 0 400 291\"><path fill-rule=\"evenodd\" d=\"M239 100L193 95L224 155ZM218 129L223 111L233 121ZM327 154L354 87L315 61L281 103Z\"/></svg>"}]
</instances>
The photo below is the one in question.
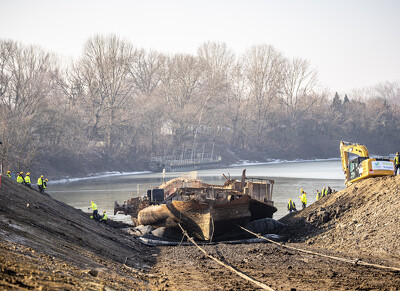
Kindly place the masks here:
<instances>
[{"instance_id":1,"label":"all brown muddy ground in front, including both sloping banks","mask_svg":"<svg viewBox=\"0 0 400 291\"><path fill-rule=\"evenodd\" d=\"M283 217L285 245L400 268L400 176L370 178ZM258 290L195 246L148 247L124 228L11 179L0 189L0 289ZM274 290L399 290L400 273L272 243L202 246ZM355 261L356 262L356 261Z\"/></svg>"}]
</instances>

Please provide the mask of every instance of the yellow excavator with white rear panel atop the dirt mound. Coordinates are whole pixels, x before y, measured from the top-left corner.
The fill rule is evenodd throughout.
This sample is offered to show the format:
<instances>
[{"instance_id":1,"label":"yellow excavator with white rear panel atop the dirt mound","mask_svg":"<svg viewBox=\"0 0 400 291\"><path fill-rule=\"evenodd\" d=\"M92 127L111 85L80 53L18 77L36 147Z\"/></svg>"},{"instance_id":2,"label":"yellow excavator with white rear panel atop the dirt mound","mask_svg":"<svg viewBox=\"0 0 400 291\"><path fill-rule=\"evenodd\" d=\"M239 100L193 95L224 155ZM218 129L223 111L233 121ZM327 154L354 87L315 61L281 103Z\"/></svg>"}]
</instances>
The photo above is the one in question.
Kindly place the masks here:
<instances>
[{"instance_id":1,"label":"yellow excavator with white rear panel atop the dirt mound","mask_svg":"<svg viewBox=\"0 0 400 291\"><path fill-rule=\"evenodd\" d=\"M389 176L394 172L393 160L370 158L367 148L361 144L341 141L340 156L347 187L361 179Z\"/></svg>"}]
</instances>

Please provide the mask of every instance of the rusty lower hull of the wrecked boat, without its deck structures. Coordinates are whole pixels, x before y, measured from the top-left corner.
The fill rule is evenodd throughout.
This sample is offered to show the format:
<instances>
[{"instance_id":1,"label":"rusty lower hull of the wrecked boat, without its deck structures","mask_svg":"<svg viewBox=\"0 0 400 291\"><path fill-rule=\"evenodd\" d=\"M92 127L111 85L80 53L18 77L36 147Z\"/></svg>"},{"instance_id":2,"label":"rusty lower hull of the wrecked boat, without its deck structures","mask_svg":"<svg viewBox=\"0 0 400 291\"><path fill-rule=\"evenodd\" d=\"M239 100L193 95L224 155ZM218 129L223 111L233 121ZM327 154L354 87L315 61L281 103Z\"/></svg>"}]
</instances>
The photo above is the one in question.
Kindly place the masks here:
<instances>
[{"instance_id":1,"label":"rusty lower hull of the wrecked boat, without its deck structures","mask_svg":"<svg viewBox=\"0 0 400 291\"><path fill-rule=\"evenodd\" d=\"M257 213L253 214L250 209L256 209ZM179 223L190 236L199 240L212 240L239 231L238 225L246 226L253 216L272 217L275 211L275 207L266 203L255 203L249 195L220 204L201 203L192 199L149 206L139 212L138 222L177 229Z\"/></svg>"}]
</instances>

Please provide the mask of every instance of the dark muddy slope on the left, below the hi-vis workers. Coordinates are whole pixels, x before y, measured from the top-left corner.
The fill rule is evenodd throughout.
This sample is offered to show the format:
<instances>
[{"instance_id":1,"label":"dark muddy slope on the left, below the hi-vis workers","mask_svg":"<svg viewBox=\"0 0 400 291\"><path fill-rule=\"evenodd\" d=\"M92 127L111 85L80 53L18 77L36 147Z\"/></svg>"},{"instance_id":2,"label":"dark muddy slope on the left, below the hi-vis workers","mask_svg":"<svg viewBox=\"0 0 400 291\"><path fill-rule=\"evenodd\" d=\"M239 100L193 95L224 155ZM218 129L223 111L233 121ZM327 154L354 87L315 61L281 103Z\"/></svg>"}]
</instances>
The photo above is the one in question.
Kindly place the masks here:
<instances>
[{"instance_id":1,"label":"dark muddy slope on the left, below the hi-vis workers","mask_svg":"<svg viewBox=\"0 0 400 291\"><path fill-rule=\"evenodd\" d=\"M147 286L140 274L153 263L150 250L123 231L2 177L0 286L137 288Z\"/></svg>"}]
</instances>

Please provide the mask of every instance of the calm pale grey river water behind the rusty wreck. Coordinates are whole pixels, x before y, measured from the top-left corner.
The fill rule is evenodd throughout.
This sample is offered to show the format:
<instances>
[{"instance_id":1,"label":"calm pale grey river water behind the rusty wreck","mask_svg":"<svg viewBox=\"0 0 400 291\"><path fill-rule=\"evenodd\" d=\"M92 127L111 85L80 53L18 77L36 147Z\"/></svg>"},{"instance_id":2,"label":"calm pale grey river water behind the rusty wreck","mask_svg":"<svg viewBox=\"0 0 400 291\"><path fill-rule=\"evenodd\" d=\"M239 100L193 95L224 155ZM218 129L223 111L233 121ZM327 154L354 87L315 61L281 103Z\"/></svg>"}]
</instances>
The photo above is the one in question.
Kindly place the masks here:
<instances>
[{"instance_id":1,"label":"calm pale grey river water behind the rusty wreck","mask_svg":"<svg viewBox=\"0 0 400 291\"><path fill-rule=\"evenodd\" d=\"M199 170L197 177L209 184L222 185L227 177L240 180L243 169L248 177L262 177L275 181L272 197L279 219L287 214L289 198L301 208L300 189L307 193L308 205L315 202L316 190L330 186L334 190L345 188L344 175L339 159L314 161L275 161L267 164L241 164L229 168ZM165 181L181 176L182 172L166 173ZM147 189L162 184L161 173L109 173L97 177L60 180L49 182L47 193L53 198L65 202L84 212L90 212L90 201L94 201L99 213L107 211L109 218L130 223L130 217L124 214L113 215L114 201L122 204L125 200L146 193Z\"/></svg>"}]
</instances>

